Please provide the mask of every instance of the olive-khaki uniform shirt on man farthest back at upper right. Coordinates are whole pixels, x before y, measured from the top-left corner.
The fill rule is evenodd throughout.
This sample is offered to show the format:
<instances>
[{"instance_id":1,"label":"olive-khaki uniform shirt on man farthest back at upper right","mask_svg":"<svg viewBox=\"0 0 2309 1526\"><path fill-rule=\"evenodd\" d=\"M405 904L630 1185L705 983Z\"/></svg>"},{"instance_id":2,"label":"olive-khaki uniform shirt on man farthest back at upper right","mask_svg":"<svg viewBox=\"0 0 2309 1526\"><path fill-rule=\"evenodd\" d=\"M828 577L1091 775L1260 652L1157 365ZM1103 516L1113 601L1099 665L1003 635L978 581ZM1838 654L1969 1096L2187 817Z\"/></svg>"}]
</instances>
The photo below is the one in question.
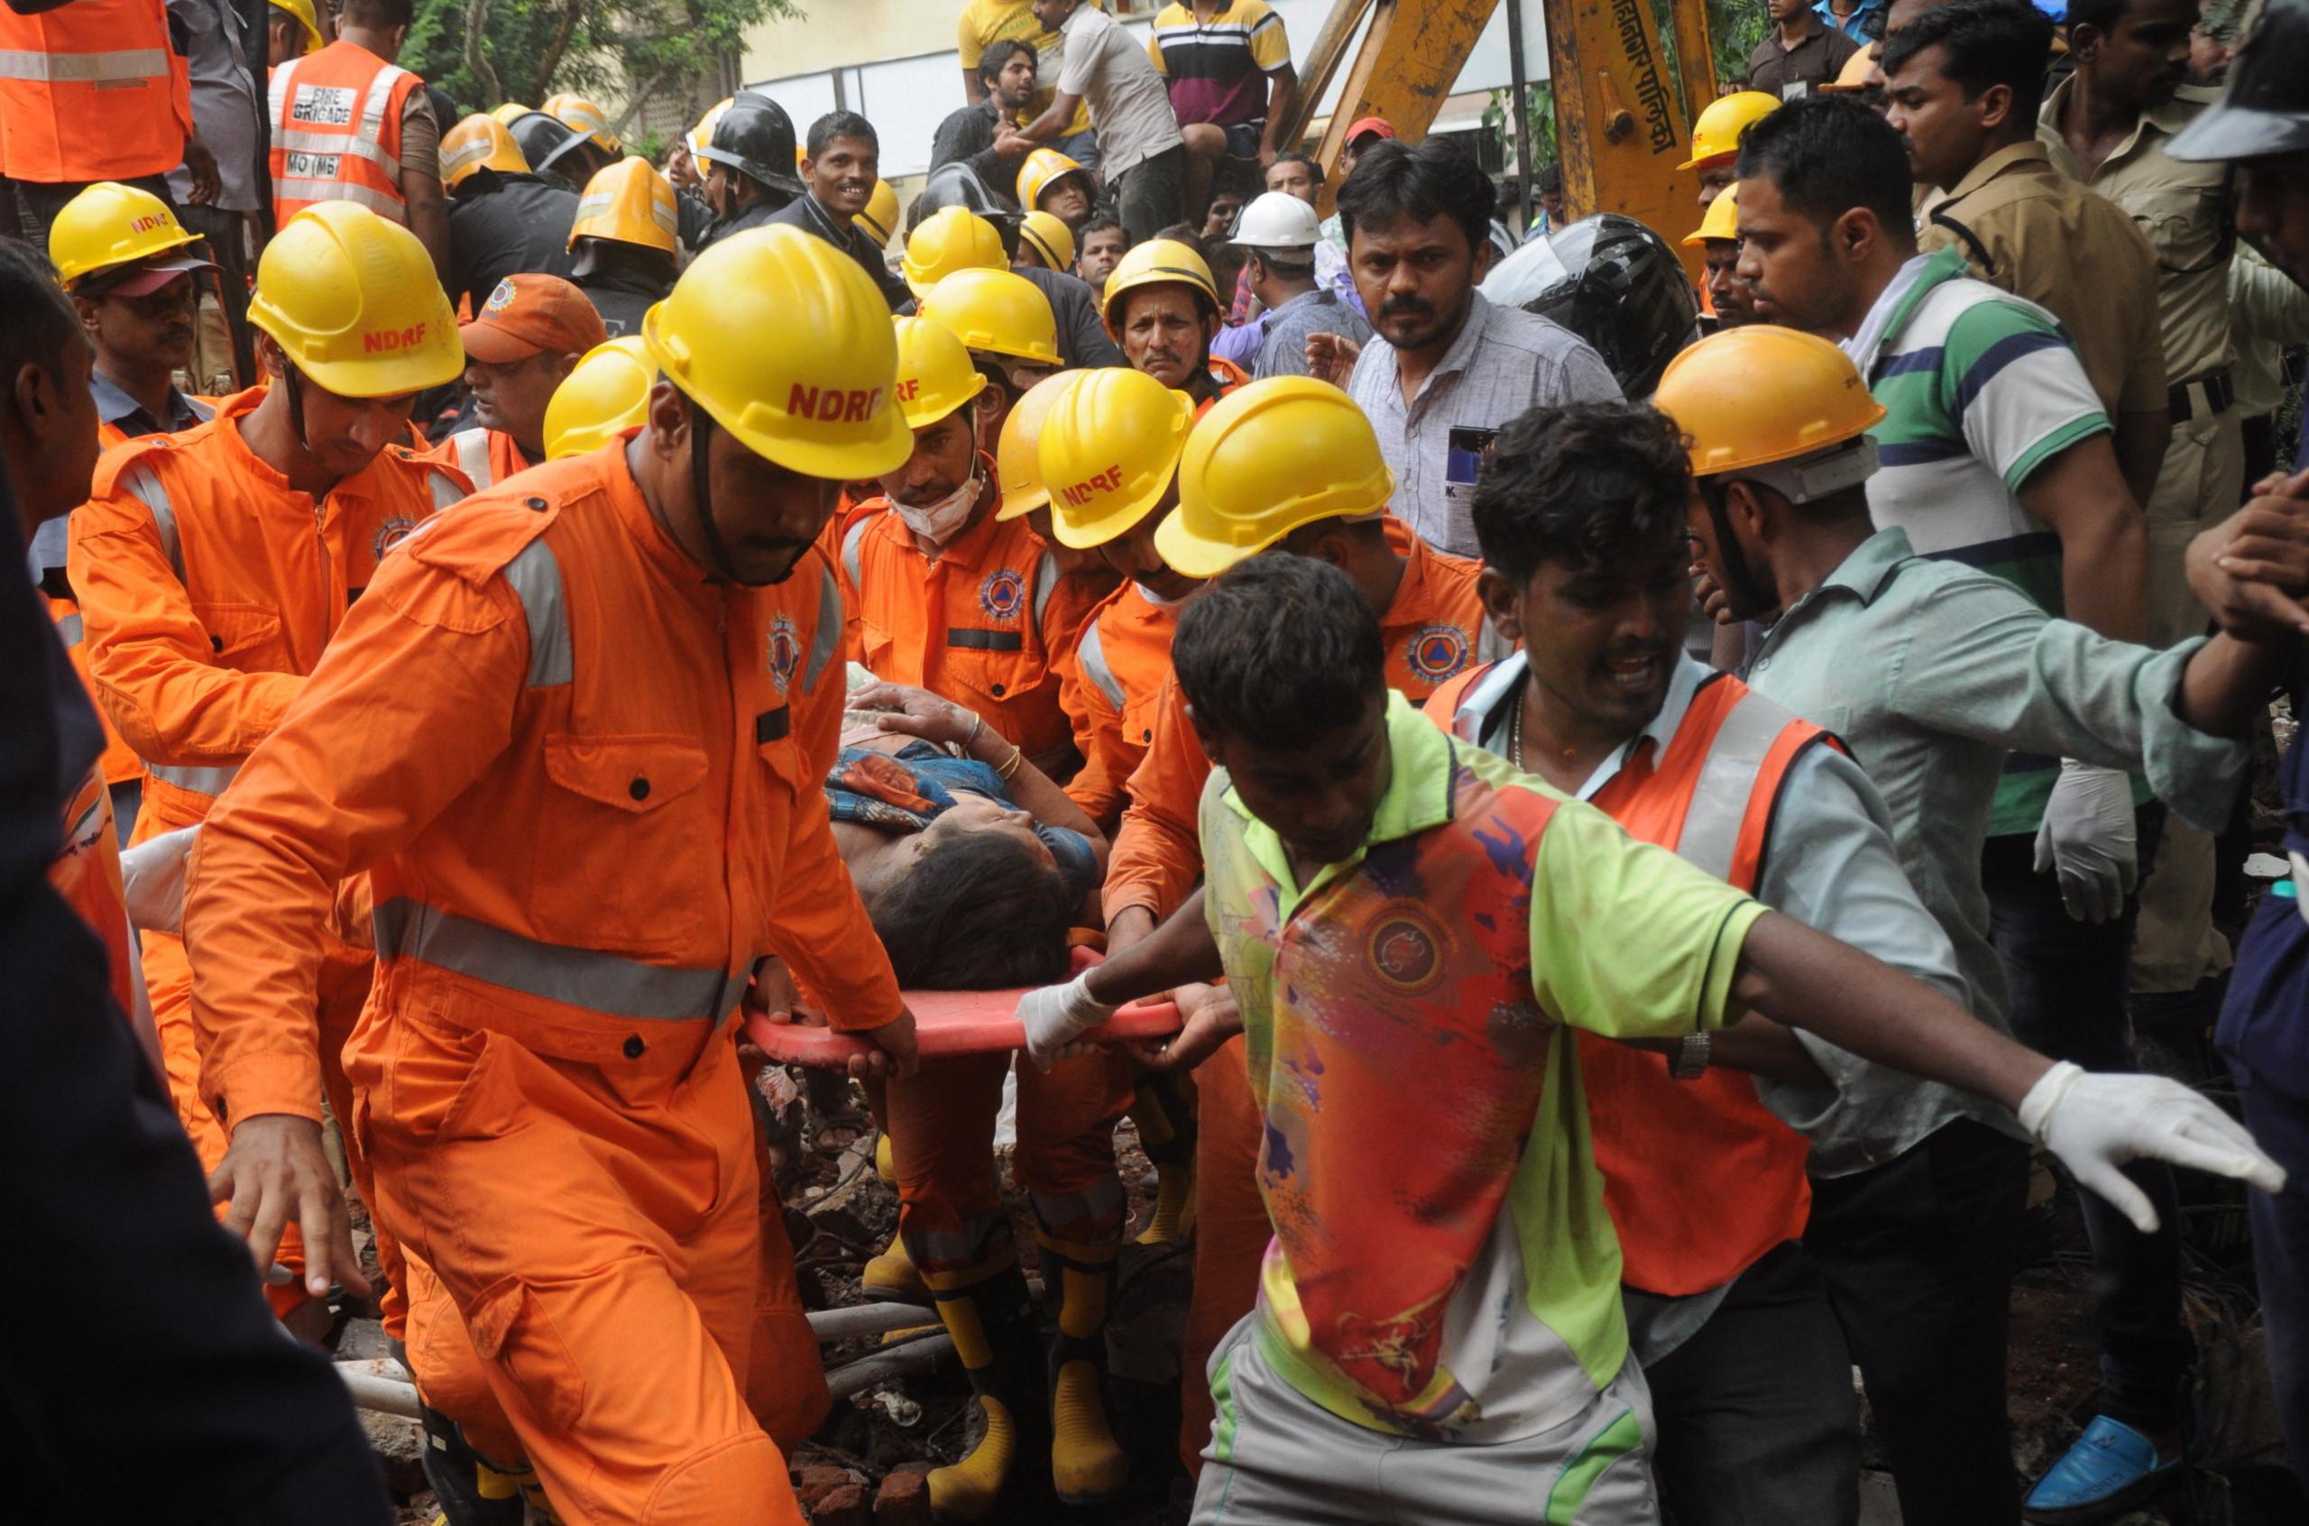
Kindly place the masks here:
<instances>
[{"instance_id":1,"label":"olive-khaki uniform shirt on man farthest back at upper right","mask_svg":"<svg viewBox=\"0 0 2309 1526\"><path fill-rule=\"evenodd\" d=\"M2124 208L2157 249L2157 316L2170 383L2219 372L2230 362L2228 261L2235 240L2228 231L2228 166L2184 164L2164 150L2214 99L2212 92L2182 85L2170 102L2145 111L2101 169L2087 175L2060 136L2073 90L2071 76L2046 97L2037 141L2046 145L2053 169Z\"/></svg>"}]
</instances>

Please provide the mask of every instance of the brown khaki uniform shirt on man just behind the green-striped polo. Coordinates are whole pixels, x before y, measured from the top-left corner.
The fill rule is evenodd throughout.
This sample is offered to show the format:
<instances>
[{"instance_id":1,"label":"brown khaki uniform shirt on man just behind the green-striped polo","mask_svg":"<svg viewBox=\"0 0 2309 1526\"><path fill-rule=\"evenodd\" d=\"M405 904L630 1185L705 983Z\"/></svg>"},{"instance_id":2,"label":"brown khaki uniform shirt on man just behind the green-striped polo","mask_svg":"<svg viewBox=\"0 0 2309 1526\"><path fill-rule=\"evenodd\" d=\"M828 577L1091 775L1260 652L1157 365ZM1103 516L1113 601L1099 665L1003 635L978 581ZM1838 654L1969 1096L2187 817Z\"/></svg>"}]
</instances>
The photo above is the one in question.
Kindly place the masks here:
<instances>
[{"instance_id":1,"label":"brown khaki uniform shirt on man just behind the green-striped polo","mask_svg":"<svg viewBox=\"0 0 2309 1526\"><path fill-rule=\"evenodd\" d=\"M2166 406L2157 252L2122 208L2053 169L2043 143L2000 148L1926 203L1916 249L1949 245L1972 275L2060 319L2110 418Z\"/></svg>"}]
</instances>

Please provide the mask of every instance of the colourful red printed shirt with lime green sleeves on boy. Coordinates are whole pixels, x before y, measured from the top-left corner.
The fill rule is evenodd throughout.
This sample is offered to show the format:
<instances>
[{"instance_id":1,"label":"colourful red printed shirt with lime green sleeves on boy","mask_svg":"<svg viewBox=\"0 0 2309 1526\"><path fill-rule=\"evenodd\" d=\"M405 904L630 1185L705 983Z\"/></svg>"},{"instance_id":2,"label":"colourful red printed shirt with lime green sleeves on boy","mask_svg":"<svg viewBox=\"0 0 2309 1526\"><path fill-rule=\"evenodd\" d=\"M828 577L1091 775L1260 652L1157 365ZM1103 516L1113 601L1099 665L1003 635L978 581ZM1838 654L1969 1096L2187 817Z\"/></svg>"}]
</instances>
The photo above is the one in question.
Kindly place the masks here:
<instances>
[{"instance_id":1,"label":"colourful red printed shirt with lime green sleeves on boy","mask_svg":"<svg viewBox=\"0 0 2309 1526\"><path fill-rule=\"evenodd\" d=\"M1353 1424L1515 1441L1628 1357L1572 1030L1736 1020L1764 907L1402 695L1388 746L1365 850L1305 889L1224 769L1203 792L1205 914L1265 1115L1258 1351Z\"/></svg>"}]
</instances>

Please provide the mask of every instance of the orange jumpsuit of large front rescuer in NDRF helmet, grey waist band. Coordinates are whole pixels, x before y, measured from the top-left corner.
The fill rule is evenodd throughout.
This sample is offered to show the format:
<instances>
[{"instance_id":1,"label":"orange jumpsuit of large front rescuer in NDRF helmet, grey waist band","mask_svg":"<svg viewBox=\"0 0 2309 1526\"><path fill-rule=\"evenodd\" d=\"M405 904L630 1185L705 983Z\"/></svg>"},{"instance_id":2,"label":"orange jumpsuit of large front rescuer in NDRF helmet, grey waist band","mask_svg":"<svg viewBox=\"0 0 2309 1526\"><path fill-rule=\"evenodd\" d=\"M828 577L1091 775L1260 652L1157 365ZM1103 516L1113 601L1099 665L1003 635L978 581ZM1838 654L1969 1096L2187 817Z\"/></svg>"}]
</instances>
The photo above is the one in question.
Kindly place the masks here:
<instances>
[{"instance_id":1,"label":"orange jumpsuit of large front rescuer in NDRF helmet, grey waist band","mask_svg":"<svg viewBox=\"0 0 2309 1526\"><path fill-rule=\"evenodd\" d=\"M236 1115L312 1115L328 884L372 873L346 1071L376 1217L441 1288L409 1360L570 1521L801 1519L755 1394L817 1353L764 1334L730 1018L774 949L838 1025L901 1013L815 757L836 600L815 559L707 582L623 441L550 462L386 566L196 850Z\"/></svg>"}]
</instances>

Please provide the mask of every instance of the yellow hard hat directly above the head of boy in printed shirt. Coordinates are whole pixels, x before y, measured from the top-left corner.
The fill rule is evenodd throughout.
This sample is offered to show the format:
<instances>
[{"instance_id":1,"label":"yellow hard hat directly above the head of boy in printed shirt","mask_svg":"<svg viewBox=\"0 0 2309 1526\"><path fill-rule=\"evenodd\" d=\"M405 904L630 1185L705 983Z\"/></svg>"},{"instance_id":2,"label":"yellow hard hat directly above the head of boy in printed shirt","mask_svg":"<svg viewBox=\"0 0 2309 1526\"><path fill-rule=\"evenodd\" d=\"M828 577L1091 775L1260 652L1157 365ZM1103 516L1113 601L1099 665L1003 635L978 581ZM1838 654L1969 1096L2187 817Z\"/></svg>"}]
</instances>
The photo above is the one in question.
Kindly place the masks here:
<instances>
[{"instance_id":1,"label":"yellow hard hat directly above the head of boy in printed shirt","mask_svg":"<svg viewBox=\"0 0 2309 1526\"><path fill-rule=\"evenodd\" d=\"M1395 473L1372 420L1314 376L1235 388L1187 436L1178 510L1154 526L1173 570L1217 577L1316 519L1367 519L1388 506Z\"/></svg>"}]
</instances>

